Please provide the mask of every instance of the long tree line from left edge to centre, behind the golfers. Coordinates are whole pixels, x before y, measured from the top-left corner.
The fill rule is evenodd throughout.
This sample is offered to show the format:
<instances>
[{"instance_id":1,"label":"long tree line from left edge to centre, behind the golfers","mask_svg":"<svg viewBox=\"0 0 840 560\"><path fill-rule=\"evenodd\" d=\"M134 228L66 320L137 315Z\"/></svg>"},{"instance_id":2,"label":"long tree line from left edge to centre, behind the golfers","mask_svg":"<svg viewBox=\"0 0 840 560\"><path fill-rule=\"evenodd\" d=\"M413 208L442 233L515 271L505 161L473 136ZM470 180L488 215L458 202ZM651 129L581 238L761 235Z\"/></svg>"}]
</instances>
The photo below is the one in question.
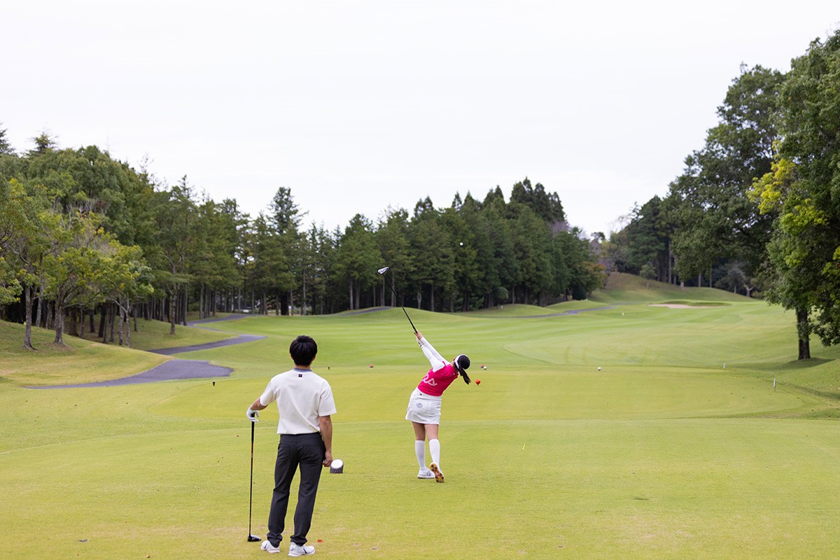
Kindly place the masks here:
<instances>
[{"instance_id":1,"label":"long tree line from left edge to centre, behind the golfers","mask_svg":"<svg viewBox=\"0 0 840 560\"><path fill-rule=\"evenodd\" d=\"M559 196L527 178L483 200L427 197L329 231L280 187L256 217L165 185L96 146L49 135L16 153L0 130L0 314L130 345L138 317L171 332L217 311L324 314L370 306L469 311L583 298L606 278ZM391 267L384 276L376 274ZM387 283L387 285L386 285ZM397 296L395 296L395 293Z\"/></svg>"}]
</instances>

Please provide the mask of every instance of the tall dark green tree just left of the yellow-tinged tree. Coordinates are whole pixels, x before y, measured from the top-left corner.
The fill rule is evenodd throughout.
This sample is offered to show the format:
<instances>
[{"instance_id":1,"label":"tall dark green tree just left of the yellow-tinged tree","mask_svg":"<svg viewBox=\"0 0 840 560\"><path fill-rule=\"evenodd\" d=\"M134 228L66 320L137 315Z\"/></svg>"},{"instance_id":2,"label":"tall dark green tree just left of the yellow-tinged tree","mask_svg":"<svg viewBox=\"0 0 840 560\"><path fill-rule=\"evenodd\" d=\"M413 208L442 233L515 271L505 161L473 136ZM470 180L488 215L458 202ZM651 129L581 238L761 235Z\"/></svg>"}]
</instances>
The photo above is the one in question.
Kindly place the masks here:
<instances>
[{"instance_id":1,"label":"tall dark green tree just left of the yellow-tinged tree","mask_svg":"<svg viewBox=\"0 0 840 560\"><path fill-rule=\"evenodd\" d=\"M717 108L720 123L703 149L685 159L670 185L675 222L673 250L680 277L699 277L726 259L738 259L752 275L764 261L770 219L749 200L753 179L770 170L779 88L784 76L762 66L732 81Z\"/></svg>"}]
</instances>

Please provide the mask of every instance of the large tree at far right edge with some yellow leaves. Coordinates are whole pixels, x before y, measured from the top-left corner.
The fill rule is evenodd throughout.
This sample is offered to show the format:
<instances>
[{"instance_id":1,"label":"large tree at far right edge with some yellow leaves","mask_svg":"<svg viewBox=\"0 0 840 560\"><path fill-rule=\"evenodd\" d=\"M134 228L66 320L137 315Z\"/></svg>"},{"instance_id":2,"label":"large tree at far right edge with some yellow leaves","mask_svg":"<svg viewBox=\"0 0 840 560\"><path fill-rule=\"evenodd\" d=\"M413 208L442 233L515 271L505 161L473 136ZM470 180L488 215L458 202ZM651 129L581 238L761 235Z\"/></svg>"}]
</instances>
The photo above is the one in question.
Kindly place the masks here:
<instances>
[{"instance_id":1,"label":"large tree at far right edge with some yellow leaves","mask_svg":"<svg viewBox=\"0 0 840 560\"><path fill-rule=\"evenodd\" d=\"M840 31L816 39L792 61L780 91L780 136L772 170L756 182L762 212L774 217L769 301L795 309L799 359L815 332L840 343Z\"/></svg>"}]
</instances>

